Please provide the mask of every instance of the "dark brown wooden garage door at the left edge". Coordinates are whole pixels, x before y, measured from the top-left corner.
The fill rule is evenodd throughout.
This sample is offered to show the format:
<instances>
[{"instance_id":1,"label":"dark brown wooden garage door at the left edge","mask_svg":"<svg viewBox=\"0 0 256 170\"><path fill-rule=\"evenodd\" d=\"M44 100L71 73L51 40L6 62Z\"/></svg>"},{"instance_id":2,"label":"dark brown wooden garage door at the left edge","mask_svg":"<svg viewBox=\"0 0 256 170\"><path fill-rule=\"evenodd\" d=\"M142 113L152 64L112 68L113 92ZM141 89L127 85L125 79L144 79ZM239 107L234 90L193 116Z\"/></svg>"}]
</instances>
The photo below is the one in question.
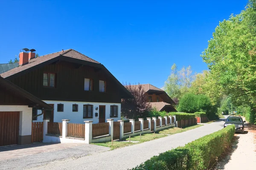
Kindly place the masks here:
<instances>
[{"instance_id":1,"label":"dark brown wooden garage door at the left edge","mask_svg":"<svg viewBox=\"0 0 256 170\"><path fill-rule=\"evenodd\" d=\"M18 144L20 112L0 112L0 146Z\"/></svg>"}]
</instances>

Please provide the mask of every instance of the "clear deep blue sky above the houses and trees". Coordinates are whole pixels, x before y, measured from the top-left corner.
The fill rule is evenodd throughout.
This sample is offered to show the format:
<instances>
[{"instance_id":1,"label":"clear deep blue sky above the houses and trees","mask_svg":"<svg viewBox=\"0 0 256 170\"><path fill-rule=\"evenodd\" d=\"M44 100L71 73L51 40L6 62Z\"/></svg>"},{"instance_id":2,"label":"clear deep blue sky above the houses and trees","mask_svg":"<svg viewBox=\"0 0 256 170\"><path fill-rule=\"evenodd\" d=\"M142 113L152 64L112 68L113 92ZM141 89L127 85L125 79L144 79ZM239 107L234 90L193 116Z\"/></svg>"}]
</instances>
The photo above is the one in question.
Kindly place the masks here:
<instances>
[{"instance_id":1,"label":"clear deep blue sky above the houses and trees","mask_svg":"<svg viewBox=\"0 0 256 170\"><path fill-rule=\"evenodd\" d=\"M173 63L207 69L200 54L219 21L247 0L1 0L0 63L21 48L40 55L73 48L122 83L161 88Z\"/></svg>"}]
</instances>

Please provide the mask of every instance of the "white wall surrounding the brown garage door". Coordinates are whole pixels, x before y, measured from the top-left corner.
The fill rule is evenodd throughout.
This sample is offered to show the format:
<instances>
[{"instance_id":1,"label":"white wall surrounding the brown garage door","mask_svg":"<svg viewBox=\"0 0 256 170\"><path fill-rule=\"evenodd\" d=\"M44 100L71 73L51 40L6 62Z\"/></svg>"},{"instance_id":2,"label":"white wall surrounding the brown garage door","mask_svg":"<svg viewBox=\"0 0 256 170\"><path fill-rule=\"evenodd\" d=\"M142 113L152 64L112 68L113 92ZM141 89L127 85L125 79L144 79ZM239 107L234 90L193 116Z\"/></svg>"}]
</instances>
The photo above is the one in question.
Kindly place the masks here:
<instances>
[{"instance_id":1,"label":"white wall surrounding the brown garage door","mask_svg":"<svg viewBox=\"0 0 256 170\"><path fill-rule=\"evenodd\" d=\"M0 105L0 111L19 111L19 135L31 135L32 108L28 106Z\"/></svg>"}]
</instances>

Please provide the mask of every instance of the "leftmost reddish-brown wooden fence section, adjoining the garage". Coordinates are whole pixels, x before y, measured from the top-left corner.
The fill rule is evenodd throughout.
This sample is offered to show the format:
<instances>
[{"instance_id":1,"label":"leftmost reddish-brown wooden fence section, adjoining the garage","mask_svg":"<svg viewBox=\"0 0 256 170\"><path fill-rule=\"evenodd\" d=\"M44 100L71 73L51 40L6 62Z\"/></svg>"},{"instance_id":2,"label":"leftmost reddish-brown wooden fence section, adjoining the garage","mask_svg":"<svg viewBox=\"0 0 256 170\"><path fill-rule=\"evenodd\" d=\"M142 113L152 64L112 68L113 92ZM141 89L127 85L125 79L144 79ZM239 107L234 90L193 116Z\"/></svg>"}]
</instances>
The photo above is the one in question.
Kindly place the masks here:
<instances>
[{"instance_id":1,"label":"leftmost reddish-brown wooden fence section, adjoining the garage","mask_svg":"<svg viewBox=\"0 0 256 170\"><path fill-rule=\"evenodd\" d=\"M44 139L44 122L32 122L31 142L42 142Z\"/></svg>"}]
</instances>

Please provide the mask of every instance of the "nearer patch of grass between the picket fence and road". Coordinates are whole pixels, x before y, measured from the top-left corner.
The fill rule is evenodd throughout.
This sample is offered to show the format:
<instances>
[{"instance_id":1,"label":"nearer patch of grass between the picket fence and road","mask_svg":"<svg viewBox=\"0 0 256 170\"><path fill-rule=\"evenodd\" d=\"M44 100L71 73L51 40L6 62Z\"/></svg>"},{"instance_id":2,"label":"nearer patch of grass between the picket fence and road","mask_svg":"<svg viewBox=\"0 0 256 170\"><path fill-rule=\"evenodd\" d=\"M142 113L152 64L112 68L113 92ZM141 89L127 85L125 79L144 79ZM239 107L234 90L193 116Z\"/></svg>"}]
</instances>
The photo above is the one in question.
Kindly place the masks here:
<instances>
[{"instance_id":1,"label":"nearer patch of grass between the picket fence and road","mask_svg":"<svg viewBox=\"0 0 256 170\"><path fill-rule=\"evenodd\" d=\"M91 144L96 144L99 146L105 146L105 147L110 147L111 150L119 148L119 147L125 147L125 146L130 146L133 144L139 144L147 141L151 141L154 139L159 139L163 138L167 135L164 134L158 134L158 133L146 133L138 136L133 136L131 137L131 143L129 143L129 138L124 138L123 141L113 141L113 145L111 146L111 142L102 142L102 143L91 143Z\"/></svg>"}]
</instances>

